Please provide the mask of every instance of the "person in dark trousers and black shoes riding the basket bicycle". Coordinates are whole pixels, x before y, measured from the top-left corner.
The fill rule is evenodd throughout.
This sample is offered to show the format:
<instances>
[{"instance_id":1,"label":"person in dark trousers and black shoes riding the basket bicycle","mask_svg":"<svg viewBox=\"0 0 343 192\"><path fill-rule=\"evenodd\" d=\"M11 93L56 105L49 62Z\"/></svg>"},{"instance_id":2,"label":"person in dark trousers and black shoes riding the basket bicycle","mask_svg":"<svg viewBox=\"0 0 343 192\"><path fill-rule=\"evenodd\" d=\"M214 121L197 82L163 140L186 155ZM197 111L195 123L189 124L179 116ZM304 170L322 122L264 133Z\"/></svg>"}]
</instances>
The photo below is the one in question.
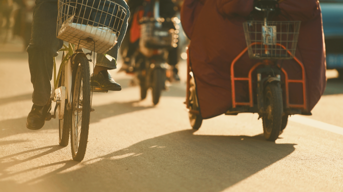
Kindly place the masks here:
<instances>
[{"instance_id":1,"label":"person in dark trousers and black shoes riding the basket bicycle","mask_svg":"<svg viewBox=\"0 0 343 192\"><path fill-rule=\"evenodd\" d=\"M118 48L126 32L127 19L130 12L124 0L112 1L125 7L127 15L124 19L117 44L107 52L115 59L110 61L104 55L98 54L92 78L103 89L121 90L120 84L114 81L108 70L116 68ZM57 14L58 0L36 0L31 43L27 47L31 82L34 91L32 94L33 106L28 115L26 127L33 130L43 127L46 115L51 109L50 80L53 73L53 57L58 55L58 50L63 46L63 41L56 37Z\"/></svg>"}]
</instances>

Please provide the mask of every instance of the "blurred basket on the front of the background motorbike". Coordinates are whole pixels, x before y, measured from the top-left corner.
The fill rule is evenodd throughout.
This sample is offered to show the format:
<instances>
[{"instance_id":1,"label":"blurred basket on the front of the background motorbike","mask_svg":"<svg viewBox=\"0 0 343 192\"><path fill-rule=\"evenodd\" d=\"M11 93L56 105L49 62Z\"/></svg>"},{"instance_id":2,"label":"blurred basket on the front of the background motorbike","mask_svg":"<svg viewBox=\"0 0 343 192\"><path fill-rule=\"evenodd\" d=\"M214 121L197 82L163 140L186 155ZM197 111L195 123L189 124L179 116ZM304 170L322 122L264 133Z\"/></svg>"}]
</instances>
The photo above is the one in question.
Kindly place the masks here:
<instances>
[{"instance_id":1,"label":"blurred basket on the front of the background motorbike","mask_svg":"<svg viewBox=\"0 0 343 192\"><path fill-rule=\"evenodd\" d=\"M161 22L143 22L140 25L141 36L139 43L146 48L152 49L176 47L177 38L175 34L173 28L165 27Z\"/></svg>"}]
</instances>

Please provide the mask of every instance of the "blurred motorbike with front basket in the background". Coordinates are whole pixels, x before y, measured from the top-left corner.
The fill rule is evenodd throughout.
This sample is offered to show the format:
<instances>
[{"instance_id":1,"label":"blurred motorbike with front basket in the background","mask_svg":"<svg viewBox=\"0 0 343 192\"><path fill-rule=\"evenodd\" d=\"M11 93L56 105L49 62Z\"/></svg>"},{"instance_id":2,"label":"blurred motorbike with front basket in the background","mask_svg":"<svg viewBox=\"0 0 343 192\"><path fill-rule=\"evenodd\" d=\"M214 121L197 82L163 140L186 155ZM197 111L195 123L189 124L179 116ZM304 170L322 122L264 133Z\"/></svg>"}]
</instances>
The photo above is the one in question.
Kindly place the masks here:
<instances>
[{"instance_id":1,"label":"blurred motorbike with front basket in the background","mask_svg":"<svg viewBox=\"0 0 343 192\"><path fill-rule=\"evenodd\" d=\"M168 50L178 46L175 21L173 18L161 18L159 7L159 0L152 0L151 4L144 6L140 19L133 18L139 22L140 38L128 67L128 71L133 72L139 81L141 99L151 88L153 104L158 103L165 81L171 76L170 66L166 63ZM139 17L139 11L134 16Z\"/></svg>"}]
</instances>

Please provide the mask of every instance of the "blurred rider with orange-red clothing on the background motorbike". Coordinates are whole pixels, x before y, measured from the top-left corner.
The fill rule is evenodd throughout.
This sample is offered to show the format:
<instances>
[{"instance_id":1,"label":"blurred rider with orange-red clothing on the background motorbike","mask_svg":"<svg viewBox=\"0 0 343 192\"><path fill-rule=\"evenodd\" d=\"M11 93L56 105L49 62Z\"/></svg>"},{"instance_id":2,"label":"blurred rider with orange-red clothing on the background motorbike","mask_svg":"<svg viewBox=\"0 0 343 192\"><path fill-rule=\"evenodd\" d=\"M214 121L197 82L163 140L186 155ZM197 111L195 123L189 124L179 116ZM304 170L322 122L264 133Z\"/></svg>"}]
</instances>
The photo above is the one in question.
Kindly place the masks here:
<instances>
[{"instance_id":1,"label":"blurred rider with orange-red clothing on the background motorbike","mask_svg":"<svg viewBox=\"0 0 343 192\"><path fill-rule=\"evenodd\" d=\"M178 10L178 6L175 4L175 0L159 0L160 1L160 17L163 18L171 18L175 16L176 11ZM127 4L130 7L131 12L134 13L134 16L129 21L128 24L128 35L124 39L125 43L123 46L123 49L126 49L125 51L122 51L123 57L124 57L124 63L120 70L127 70L130 66L130 59L131 56L134 54L136 49L139 46L139 37L140 37L140 27L138 24L138 17L142 16L143 12L145 11L146 6L151 6L151 4L154 2L154 0L127 0ZM148 9L148 11L152 11L151 9ZM139 13L140 12L140 13ZM150 16L150 13L147 13L148 16ZM171 23L170 23L171 24ZM174 28L175 26L173 24L170 25L170 28ZM174 28L175 29L175 28ZM173 74L175 80L180 80L178 75L178 68L176 65L179 62L179 56L178 56L178 48L170 48L168 50L168 64L173 67Z\"/></svg>"}]
</instances>

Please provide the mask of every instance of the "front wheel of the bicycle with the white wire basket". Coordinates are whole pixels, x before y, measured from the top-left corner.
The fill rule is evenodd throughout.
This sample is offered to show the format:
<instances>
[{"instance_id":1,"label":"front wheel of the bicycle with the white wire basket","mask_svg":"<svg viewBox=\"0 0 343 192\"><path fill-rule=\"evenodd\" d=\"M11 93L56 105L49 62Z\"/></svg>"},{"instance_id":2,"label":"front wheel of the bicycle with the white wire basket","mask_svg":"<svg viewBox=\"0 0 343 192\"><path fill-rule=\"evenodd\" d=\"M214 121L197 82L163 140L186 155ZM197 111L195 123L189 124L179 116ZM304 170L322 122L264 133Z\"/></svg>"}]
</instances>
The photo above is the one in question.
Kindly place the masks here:
<instances>
[{"instance_id":1,"label":"front wheel of the bicycle with the white wire basket","mask_svg":"<svg viewBox=\"0 0 343 192\"><path fill-rule=\"evenodd\" d=\"M86 153L89 118L91 109L90 71L89 62L85 57L75 60L72 90L72 126L70 141L73 159L81 161Z\"/></svg>"}]
</instances>

